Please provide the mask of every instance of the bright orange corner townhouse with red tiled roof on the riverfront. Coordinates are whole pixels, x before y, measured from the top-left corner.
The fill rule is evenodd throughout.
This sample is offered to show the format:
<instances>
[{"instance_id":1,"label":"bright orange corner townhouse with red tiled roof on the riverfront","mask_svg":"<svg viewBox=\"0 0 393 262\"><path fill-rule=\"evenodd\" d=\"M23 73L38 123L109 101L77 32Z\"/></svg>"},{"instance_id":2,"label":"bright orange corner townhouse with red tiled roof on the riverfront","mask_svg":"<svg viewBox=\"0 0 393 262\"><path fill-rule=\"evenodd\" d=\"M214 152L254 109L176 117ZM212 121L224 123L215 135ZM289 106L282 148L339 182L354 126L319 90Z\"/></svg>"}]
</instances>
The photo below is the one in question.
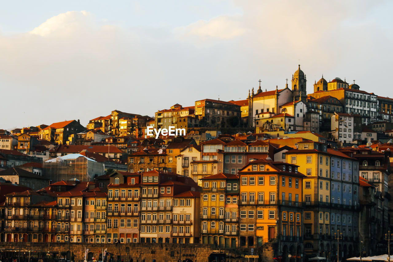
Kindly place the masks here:
<instances>
[{"instance_id":1,"label":"bright orange corner townhouse with red tiled roof on the riverfront","mask_svg":"<svg viewBox=\"0 0 393 262\"><path fill-rule=\"evenodd\" d=\"M270 241L278 244L274 255L300 255L305 175L298 166L258 159L242 168L239 178L240 246L260 247Z\"/></svg>"}]
</instances>

